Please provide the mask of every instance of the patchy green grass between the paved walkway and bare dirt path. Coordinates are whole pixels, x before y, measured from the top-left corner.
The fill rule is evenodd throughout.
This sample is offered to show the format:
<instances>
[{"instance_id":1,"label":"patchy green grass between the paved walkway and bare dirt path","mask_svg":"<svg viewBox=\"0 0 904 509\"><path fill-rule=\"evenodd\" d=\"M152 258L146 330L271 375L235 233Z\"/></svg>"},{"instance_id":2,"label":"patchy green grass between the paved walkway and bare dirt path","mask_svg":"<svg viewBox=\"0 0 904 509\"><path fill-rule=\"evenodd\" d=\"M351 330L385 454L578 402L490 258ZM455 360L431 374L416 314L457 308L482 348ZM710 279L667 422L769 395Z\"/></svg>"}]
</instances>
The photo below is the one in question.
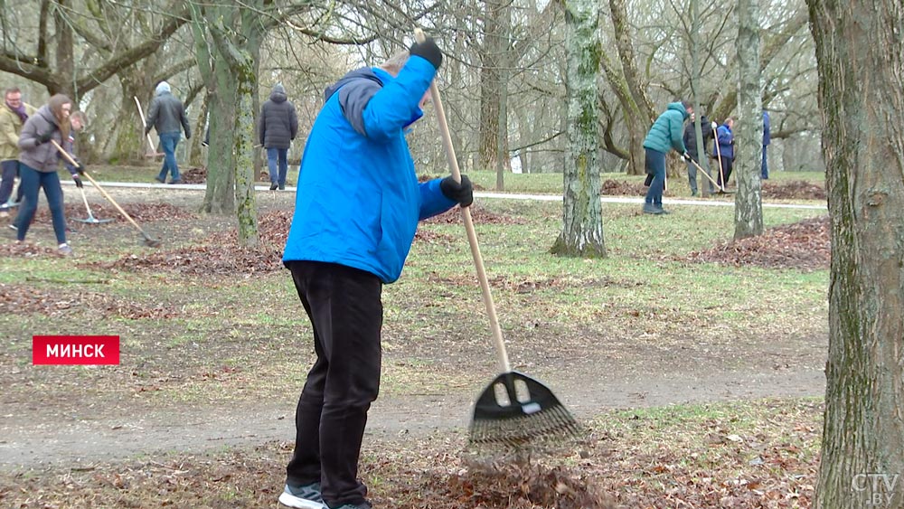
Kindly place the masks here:
<instances>
[{"instance_id":1,"label":"patchy green grass between the paved walkway and bare dirt path","mask_svg":"<svg viewBox=\"0 0 904 509\"><path fill-rule=\"evenodd\" d=\"M693 250L730 240L729 207L676 206L664 220L640 214L636 205L607 203L603 228L608 257L570 259L549 253L560 233L560 203L492 200L480 206L507 219L477 222L476 229L516 362L540 361L541 350L532 348L538 334L565 338L560 348L576 351L598 338L636 330L679 342L675 347L692 347L681 344L681 338L720 342L724 330L700 326L713 323L730 326L731 334L741 338L739 345L757 335L825 334L826 270L801 273L682 260ZM820 212L764 213L767 226L774 226ZM388 359L381 391L386 394L430 393L442 385L470 390L468 384L479 385L484 370L493 369L492 357L485 355L485 311L464 228L423 228L445 240L416 242L402 277L383 292ZM179 401L266 399L294 392L303 380L305 370L299 365L306 362L310 329L285 271L253 278L199 278L170 271L110 273L82 265L116 258L117 250L92 251L86 245L75 263L45 257L0 259L0 283L76 303L50 315L28 308L0 314L0 329L23 340L38 333L121 335L124 365L109 383L129 383L129 372L137 377L164 373L161 390L148 395L161 401L176 396ZM41 279L27 281L35 277ZM92 279L108 284L79 282ZM99 297L79 305L85 295ZM119 316L114 305L127 305L138 316ZM174 316L164 318L161 310ZM541 333L531 325L538 320L545 324ZM16 344L18 358L27 345ZM479 369L471 370L475 356ZM423 364L397 363L400 359L420 359ZM21 365L11 357L0 359L0 367L8 363ZM201 376L227 364L240 365L242 372L223 376L216 384ZM423 378L425 372L429 380ZM473 374L462 377L461 372ZM169 380L166 373L190 376ZM92 380L94 375L72 376ZM238 387L242 389L233 391Z\"/></svg>"}]
</instances>

